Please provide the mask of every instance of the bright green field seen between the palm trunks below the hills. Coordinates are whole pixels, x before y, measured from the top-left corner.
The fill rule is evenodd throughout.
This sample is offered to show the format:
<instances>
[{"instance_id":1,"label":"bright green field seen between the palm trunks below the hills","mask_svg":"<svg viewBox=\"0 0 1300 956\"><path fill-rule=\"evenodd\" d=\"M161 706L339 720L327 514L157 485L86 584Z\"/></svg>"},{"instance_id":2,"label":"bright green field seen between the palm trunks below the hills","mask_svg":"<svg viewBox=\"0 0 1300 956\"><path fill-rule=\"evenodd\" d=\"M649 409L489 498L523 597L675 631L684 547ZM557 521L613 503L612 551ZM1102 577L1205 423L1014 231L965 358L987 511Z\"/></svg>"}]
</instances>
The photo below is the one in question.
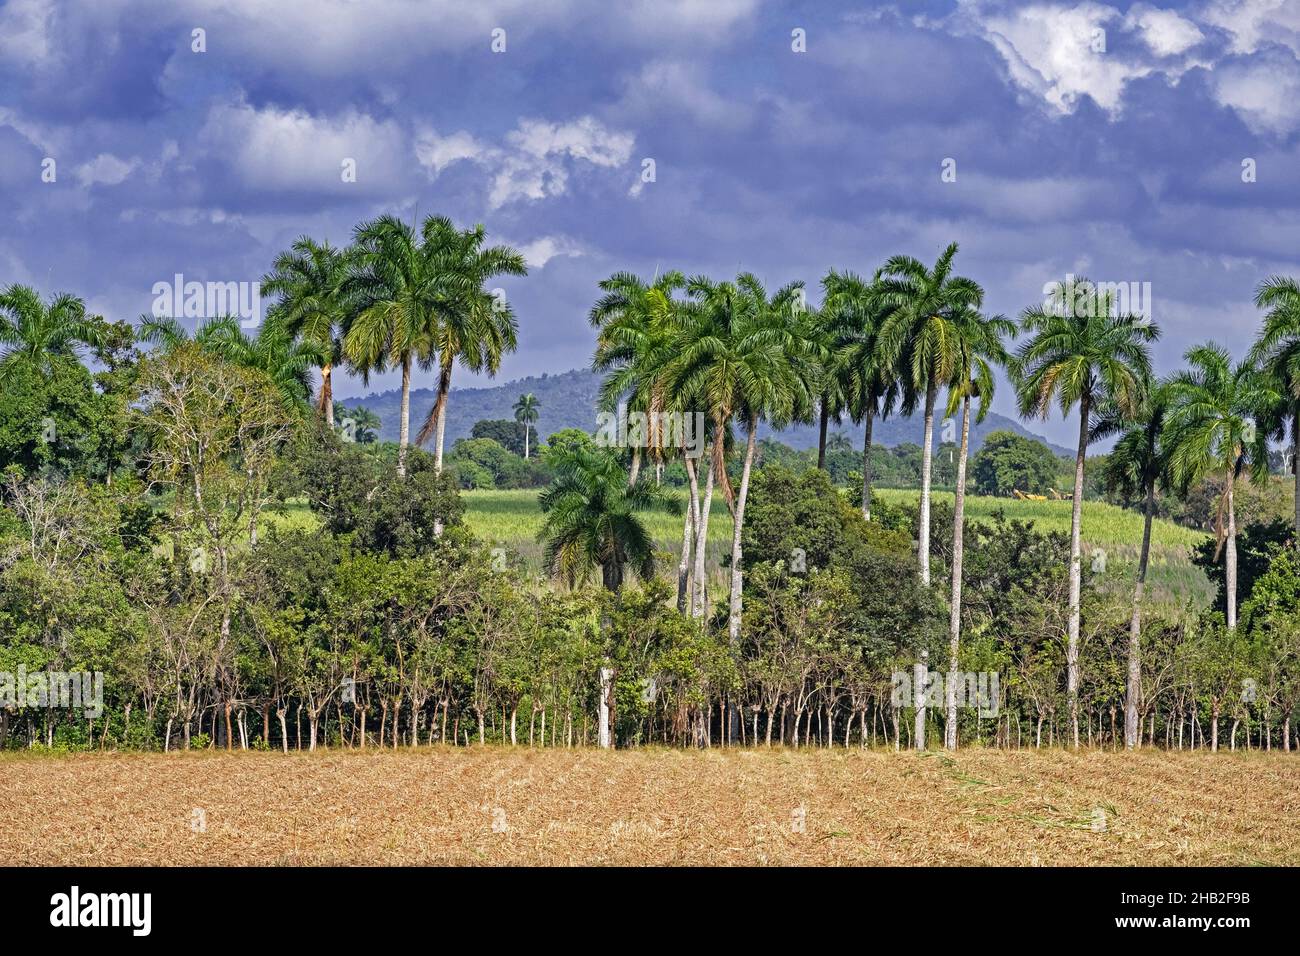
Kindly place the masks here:
<instances>
[{"instance_id":1,"label":"bright green field seen between the palm trunks below the hills","mask_svg":"<svg viewBox=\"0 0 1300 956\"><path fill-rule=\"evenodd\" d=\"M541 545L537 532L542 527L542 512L537 506L536 490L462 492L465 501L465 520L484 541L508 548L529 566L541 563ZM915 501L918 492L907 489L879 489L876 494L890 505ZM952 502L952 492L936 492L939 501ZM1017 501L967 496L966 514L974 519L988 519L1002 510L1009 518L1034 522L1041 531L1070 531L1069 501ZM676 558L681 553L681 518L658 512L646 515L646 524L659 548ZM1105 551L1105 583L1128 588L1141 544L1141 515L1114 505L1086 501L1083 503L1083 541L1086 559L1093 561L1093 549ZM731 549L731 515L720 498L715 497L712 519L708 522L708 559L716 566ZM946 532L944 532L946 533ZM1152 527L1152 557L1148 576L1152 600L1183 605L1192 600L1209 601L1212 591L1205 575L1192 566L1191 548L1205 540L1205 535L1173 522L1157 520Z\"/></svg>"}]
</instances>

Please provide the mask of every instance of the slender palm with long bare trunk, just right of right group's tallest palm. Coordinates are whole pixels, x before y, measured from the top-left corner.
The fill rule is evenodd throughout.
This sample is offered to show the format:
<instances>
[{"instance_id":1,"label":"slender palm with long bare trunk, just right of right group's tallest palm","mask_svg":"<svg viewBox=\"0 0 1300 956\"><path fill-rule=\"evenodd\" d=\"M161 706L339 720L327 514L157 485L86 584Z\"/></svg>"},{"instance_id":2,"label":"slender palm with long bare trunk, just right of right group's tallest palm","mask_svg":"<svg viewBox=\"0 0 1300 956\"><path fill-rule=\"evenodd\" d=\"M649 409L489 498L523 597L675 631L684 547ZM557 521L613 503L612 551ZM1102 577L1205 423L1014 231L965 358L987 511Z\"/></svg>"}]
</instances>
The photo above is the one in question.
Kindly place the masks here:
<instances>
[{"instance_id":1,"label":"slender palm with long bare trunk, just right of right group's tallest palm","mask_svg":"<svg viewBox=\"0 0 1300 956\"><path fill-rule=\"evenodd\" d=\"M976 421L988 415L993 401L993 369L1010 360L1002 339L1015 334L1005 316L985 317L968 308L953 316L958 339L957 377L948 386L948 416L962 412L962 437L957 453L957 490L953 506L953 589L948 617L948 685L944 747L957 749L957 663L962 632L962 535L966 519L966 460L970 454L971 398L979 399Z\"/></svg>"}]
</instances>

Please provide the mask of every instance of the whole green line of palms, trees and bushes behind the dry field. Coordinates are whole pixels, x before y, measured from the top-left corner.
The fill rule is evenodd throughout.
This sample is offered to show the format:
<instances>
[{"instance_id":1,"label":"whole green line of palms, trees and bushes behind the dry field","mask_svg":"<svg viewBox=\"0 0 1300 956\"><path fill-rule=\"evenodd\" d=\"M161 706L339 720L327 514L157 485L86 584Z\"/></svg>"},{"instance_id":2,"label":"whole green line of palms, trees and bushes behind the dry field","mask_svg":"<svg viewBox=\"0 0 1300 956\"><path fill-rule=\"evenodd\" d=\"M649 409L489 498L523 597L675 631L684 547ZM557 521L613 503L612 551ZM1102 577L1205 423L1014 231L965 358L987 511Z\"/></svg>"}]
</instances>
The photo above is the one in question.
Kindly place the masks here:
<instances>
[{"instance_id":1,"label":"whole green line of palms, trees and bushes behind the dry field","mask_svg":"<svg viewBox=\"0 0 1300 956\"><path fill-rule=\"evenodd\" d=\"M1268 480L1270 440L1300 432L1300 289L1261 285L1245 359L1206 343L1158 377L1158 326L1119 313L1102 287L1067 280L1011 321L983 311L957 252L893 256L870 277L831 271L816 306L801 282L770 291L750 273L601 282L601 407L649 427L632 447L549 442L550 580L472 538L443 470L455 367L494 373L516 347L512 307L488 286L524 274L523 259L488 246L482 226L380 217L343 250L299 239L264 280L274 300L255 334L221 316L192 334L156 316L112 323L73 295L9 286L3 662L104 670L112 700L98 730L0 709L0 736L517 743L523 708L530 739L537 721L541 740L566 745L902 745L905 731L926 745L931 726L949 748L1024 745L1024 722L1035 744L1045 726L1046 743L1075 747L1158 744L1160 730L1166 745L1184 730L1196 745L1208 718L1217 748L1230 717L1231 745L1244 724L1247 745L1290 749L1295 527L1240 594L1235 502L1242 483ZM400 372L394 455L341 433L341 368ZM412 440L416 371L438 389ZM1079 416L1067 536L965 519L971 419L1000 373L1024 416ZM529 405L516 408L525 429ZM872 425L918 411L920 493L890 509L871 493ZM958 423L952 512L932 494L936 412ZM702 415L702 454L663 428L670 414ZM824 464L828 423L842 418L862 428L850 496L822 470L755 467L760 427L818 423ZM1087 450L1106 437L1104 483L1145 516L1126 607L1082 561ZM662 481L677 466L684 501ZM1206 564L1222 570L1222 611L1145 619L1157 499L1210 475L1222 492ZM711 564L715 499L732 535ZM662 574L671 555L646 532L647 509L681 518L675 575ZM892 695L922 652L950 678L941 706ZM1004 675L993 714L959 708L953 678L970 671Z\"/></svg>"}]
</instances>

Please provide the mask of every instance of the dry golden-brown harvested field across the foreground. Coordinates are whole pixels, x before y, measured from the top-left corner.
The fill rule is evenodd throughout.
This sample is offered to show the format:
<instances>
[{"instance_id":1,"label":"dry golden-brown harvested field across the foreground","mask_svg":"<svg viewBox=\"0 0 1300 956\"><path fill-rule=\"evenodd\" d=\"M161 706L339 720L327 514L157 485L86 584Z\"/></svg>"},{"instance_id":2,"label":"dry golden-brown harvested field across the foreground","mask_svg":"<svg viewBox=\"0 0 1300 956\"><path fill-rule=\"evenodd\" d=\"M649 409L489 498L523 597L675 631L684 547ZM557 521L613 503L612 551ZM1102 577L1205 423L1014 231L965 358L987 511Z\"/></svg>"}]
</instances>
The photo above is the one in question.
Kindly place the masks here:
<instances>
[{"instance_id":1,"label":"dry golden-brown harvested field across the foreground","mask_svg":"<svg viewBox=\"0 0 1300 956\"><path fill-rule=\"evenodd\" d=\"M1297 865L1297 825L1282 753L0 758L9 864Z\"/></svg>"}]
</instances>

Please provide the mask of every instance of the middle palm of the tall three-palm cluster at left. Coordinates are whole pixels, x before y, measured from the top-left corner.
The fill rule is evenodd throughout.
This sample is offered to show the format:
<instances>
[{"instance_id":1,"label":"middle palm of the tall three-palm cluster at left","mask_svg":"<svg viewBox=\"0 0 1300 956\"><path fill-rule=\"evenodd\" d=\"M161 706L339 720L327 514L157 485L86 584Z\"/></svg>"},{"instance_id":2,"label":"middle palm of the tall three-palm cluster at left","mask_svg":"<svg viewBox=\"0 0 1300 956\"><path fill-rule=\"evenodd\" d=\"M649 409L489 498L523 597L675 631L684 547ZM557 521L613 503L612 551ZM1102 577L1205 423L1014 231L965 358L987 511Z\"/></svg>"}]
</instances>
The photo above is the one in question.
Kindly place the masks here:
<instances>
[{"instance_id":1,"label":"middle palm of the tall three-palm cluster at left","mask_svg":"<svg viewBox=\"0 0 1300 956\"><path fill-rule=\"evenodd\" d=\"M404 476L411 444L411 368L415 363L429 368L436 350L441 302L433 250L395 216L361 222L355 250L343 286L351 303L343 354L365 382L372 372L402 369L398 475Z\"/></svg>"}]
</instances>

